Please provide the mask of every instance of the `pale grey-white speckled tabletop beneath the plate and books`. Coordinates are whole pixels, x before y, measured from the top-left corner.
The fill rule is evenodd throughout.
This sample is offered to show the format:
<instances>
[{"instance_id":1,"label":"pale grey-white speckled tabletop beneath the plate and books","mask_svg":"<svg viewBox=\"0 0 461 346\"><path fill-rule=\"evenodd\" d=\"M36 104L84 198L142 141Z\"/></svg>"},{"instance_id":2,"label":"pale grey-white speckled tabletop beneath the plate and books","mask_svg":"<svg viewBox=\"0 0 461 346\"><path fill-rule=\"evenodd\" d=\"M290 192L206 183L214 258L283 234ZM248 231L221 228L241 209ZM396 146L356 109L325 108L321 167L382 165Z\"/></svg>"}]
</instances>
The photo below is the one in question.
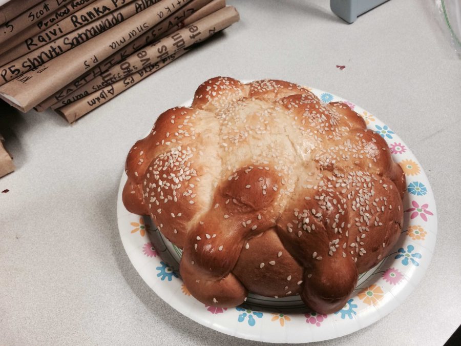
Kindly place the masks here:
<instances>
[{"instance_id":1,"label":"pale grey-white speckled tabletop beneath the plate and books","mask_svg":"<svg viewBox=\"0 0 461 346\"><path fill-rule=\"evenodd\" d=\"M0 191L10 190L0 194L0 343L257 344L163 302L117 229L129 148L215 75L285 79L345 97L399 134L431 182L439 228L420 286L370 327L321 344L441 345L461 323L461 61L430 2L393 0L352 25L326 0L228 3L239 23L75 125L0 106L17 166L0 179Z\"/></svg>"}]
</instances>

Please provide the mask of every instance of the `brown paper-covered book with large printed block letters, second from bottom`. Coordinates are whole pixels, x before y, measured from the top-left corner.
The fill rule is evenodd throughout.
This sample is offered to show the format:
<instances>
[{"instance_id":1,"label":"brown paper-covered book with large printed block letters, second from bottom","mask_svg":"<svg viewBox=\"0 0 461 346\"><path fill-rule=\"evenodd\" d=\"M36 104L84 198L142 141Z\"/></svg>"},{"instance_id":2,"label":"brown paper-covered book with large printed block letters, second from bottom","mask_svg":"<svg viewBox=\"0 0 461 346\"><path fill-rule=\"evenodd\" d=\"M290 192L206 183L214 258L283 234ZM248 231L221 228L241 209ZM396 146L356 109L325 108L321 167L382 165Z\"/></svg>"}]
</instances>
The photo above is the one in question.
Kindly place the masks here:
<instances>
[{"instance_id":1,"label":"brown paper-covered book with large printed block letters, second from bottom","mask_svg":"<svg viewBox=\"0 0 461 346\"><path fill-rule=\"evenodd\" d=\"M59 102L59 104L66 105L74 99L79 99L109 84L115 83L117 80L137 70L141 70L146 64L154 64L162 58L172 55L179 49L190 47L195 43L207 39L215 32L223 30L237 20L237 11L231 6L209 14L199 21L158 40L152 45L141 48L139 51L123 59L122 62L111 67L107 72L95 77L91 82L75 90L66 97L64 103Z\"/></svg>"}]
</instances>

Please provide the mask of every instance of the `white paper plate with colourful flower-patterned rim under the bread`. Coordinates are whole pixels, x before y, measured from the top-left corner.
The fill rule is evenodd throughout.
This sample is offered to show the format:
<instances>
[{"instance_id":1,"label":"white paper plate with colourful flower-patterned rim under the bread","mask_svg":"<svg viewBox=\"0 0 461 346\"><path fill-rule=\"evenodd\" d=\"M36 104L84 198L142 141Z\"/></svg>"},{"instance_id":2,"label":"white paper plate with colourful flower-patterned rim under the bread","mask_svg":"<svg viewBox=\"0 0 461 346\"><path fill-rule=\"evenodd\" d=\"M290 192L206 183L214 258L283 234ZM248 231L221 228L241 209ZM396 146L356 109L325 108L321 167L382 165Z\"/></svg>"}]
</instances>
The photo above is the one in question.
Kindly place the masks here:
<instances>
[{"instance_id":1,"label":"white paper plate with colourful flower-patterned rim under the bread","mask_svg":"<svg viewBox=\"0 0 461 346\"><path fill-rule=\"evenodd\" d=\"M330 93L309 88L322 101L353 107L367 127L386 139L393 159L407 176L403 232L376 267L359 276L354 295L340 311L309 313L299 296L267 298L250 294L245 306L207 307L185 289L178 275L181 250L156 230L149 218L128 212L122 203L127 180L122 175L117 201L120 237L133 266L152 290L183 315L219 332L266 342L310 342L340 337L379 320L395 309L417 286L435 246L437 217L432 190L423 168L402 139L374 115ZM190 106L192 100L184 104ZM399 326L395 326L399 328Z\"/></svg>"}]
</instances>

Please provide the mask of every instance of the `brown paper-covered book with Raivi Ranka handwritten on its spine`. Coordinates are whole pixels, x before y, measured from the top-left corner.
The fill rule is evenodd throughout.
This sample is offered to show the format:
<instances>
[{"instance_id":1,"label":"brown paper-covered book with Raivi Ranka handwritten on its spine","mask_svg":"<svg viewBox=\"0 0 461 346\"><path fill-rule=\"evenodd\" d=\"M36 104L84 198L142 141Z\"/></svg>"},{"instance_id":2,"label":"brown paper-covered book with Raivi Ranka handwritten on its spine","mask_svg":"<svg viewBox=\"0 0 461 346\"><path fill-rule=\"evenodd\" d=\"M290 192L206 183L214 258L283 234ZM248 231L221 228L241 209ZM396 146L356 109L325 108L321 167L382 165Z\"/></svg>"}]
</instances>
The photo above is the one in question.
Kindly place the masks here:
<instances>
[{"instance_id":1,"label":"brown paper-covered book with Raivi Ranka handwritten on its spine","mask_svg":"<svg viewBox=\"0 0 461 346\"><path fill-rule=\"evenodd\" d=\"M124 0L123 5L133 1L135 0ZM121 7L121 2L122 1L116 2L113 0L77 0L59 8L54 13L50 14L43 22L37 23L24 30L24 32L28 33L27 37L23 38L23 33L21 32L18 36L21 36L23 39L7 52L0 55L0 66L45 46L55 39L87 25L90 22L97 21L101 16ZM76 6L78 4L85 4L86 6ZM56 21L57 17L59 21ZM50 23L52 20L54 24ZM15 38L16 37L13 37L12 39L15 40Z\"/></svg>"}]
</instances>

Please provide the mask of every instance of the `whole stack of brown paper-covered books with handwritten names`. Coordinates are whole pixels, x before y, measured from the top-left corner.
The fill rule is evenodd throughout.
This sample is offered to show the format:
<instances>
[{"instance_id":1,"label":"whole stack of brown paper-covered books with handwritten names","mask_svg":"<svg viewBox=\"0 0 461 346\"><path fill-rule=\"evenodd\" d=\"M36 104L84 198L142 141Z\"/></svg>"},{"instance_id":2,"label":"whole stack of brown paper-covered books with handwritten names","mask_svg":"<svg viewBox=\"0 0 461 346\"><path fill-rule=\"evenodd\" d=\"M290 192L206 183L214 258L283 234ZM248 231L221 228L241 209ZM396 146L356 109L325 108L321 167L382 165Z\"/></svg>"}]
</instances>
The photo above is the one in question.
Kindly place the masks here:
<instances>
[{"instance_id":1,"label":"whole stack of brown paper-covered books with handwritten names","mask_svg":"<svg viewBox=\"0 0 461 346\"><path fill-rule=\"evenodd\" d=\"M238 20L225 0L11 0L0 98L72 123Z\"/></svg>"}]
</instances>

